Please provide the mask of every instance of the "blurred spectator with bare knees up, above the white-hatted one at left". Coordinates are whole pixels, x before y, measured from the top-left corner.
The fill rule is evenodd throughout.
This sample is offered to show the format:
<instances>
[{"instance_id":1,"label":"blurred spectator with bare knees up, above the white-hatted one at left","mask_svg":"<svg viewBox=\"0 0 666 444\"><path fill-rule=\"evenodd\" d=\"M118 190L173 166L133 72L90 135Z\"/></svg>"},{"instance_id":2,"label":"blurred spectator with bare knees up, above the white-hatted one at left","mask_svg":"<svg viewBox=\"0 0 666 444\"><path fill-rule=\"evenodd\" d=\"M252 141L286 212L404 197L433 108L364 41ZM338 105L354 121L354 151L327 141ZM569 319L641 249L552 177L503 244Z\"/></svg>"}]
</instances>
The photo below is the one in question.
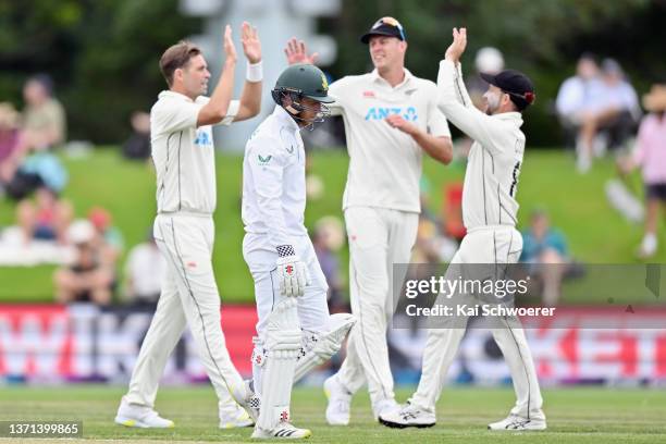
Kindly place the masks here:
<instances>
[{"instance_id":1,"label":"blurred spectator with bare knees up, above the white-hatted one at left","mask_svg":"<svg viewBox=\"0 0 666 444\"><path fill-rule=\"evenodd\" d=\"M37 188L35 200L24 199L16 207L16 220L24 242L40 239L66 244L66 230L74 214L70 201L59 199L55 192L46 186Z\"/></svg>"}]
</instances>

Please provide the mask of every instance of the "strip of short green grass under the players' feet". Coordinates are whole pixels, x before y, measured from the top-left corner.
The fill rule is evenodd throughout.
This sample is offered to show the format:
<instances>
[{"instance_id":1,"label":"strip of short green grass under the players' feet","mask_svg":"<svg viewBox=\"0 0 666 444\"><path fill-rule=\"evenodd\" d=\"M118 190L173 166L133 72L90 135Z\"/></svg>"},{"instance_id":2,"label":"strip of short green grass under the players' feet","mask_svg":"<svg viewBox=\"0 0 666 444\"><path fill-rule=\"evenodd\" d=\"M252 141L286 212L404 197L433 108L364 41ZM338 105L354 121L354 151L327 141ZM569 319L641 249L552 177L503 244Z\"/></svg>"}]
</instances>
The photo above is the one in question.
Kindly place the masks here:
<instances>
[{"instance_id":1,"label":"strip of short green grass under the players' feet","mask_svg":"<svg viewBox=\"0 0 666 444\"><path fill-rule=\"evenodd\" d=\"M10 386L0 391L0 420L81 420L83 441L247 442L250 429L219 430L217 399L209 386L162 388L157 408L176 422L170 430L136 430L113 424L124 387ZM398 391L398 398L409 395ZM325 399L319 390L296 388L295 423L308 427L314 443L658 443L666 442L666 392L603 387L544 391L548 430L489 432L485 424L507 414L514 393L505 388L446 388L437 406L439 422L422 430L387 429L372 420L368 396L359 393L348 428L325 424ZM1 441L1 440L0 440ZM16 440L8 440L16 442ZM44 443L45 441L36 441ZM62 441L61 441L62 442ZM71 442L71 441L66 441Z\"/></svg>"}]
</instances>

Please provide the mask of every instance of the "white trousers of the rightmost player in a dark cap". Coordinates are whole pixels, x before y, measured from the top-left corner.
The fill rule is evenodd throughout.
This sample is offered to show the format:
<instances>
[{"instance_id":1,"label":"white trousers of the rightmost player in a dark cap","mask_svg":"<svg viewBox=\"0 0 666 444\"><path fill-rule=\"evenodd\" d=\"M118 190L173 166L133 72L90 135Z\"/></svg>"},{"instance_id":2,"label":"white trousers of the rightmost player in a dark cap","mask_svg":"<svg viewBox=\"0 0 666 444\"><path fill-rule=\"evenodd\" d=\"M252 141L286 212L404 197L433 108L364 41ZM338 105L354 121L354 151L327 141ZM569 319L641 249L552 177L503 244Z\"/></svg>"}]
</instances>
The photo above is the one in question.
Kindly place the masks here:
<instances>
[{"instance_id":1,"label":"white trousers of the rightmost player in a dark cap","mask_svg":"<svg viewBox=\"0 0 666 444\"><path fill-rule=\"evenodd\" d=\"M462 238L460 248L447 270L448 279L455 264L516 263L522 251L522 236L513 226L494 225L472 229ZM459 268L457 269L459 270ZM455 272L454 272L455 273ZM462 298L472 296L462 295ZM476 304L476 300L469 300ZM462 322L460 322L462 321ZM532 355L525 337L525 331L517 318L506 318L495 329L493 337L508 365L517 396L511 414L526 418L543 418L543 399L539 388ZM456 319L456 328L430 329L423 351L423 368L417 392L411 403L434 412L444 379L458 351L465 335L467 319Z\"/></svg>"}]
</instances>

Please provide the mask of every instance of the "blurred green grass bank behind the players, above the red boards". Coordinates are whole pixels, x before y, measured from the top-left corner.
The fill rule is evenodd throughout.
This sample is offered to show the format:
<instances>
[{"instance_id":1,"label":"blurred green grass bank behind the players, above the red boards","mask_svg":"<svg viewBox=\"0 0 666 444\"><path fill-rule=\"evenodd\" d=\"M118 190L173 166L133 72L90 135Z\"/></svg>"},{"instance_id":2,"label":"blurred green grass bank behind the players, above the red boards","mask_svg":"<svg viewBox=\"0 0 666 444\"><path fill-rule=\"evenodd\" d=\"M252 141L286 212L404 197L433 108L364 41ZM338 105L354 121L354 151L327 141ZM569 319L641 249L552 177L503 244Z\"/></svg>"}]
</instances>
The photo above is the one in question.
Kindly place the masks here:
<instances>
[{"instance_id":1,"label":"blurred green grass bank behind the players, above the red boards","mask_svg":"<svg viewBox=\"0 0 666 444\"><path fill-rule=\"evenodd\" d=\"M112 149L101 149L83 159L63 159L70 171L64 196L74 203L78 215L95 205L109 209L125 237L125 252L140 242L155 215L155 175L149 164L128 162ZM306 223L333 214L342 218L341 201L346 181L347 155L344 151L320 151L312 157L312 171L324 184L323 197L310 200ZM584 176L575 172L574 159L562 150L530 151L526 156L518 200L520 225L525 226L534 208L545 208L553 224L568 237L571 252L590 263L633 263L642 235L640 225L621 219L607 203L604 183L614 177L609 159L599 160ZM464 165L444 166L430 159L424 174L431 184L431 209L440 213L441 190L445 184L460 181ZM640 187L640 180L633 177ZM218 157L217 239L213 264L224 301L251 301L251 279L240 255L242 158ZM0 200L0 226L14 223L14 206ZM662 233L662 245L666 233ZM666 262L662 248L654 262ZM347 251L341 252L346 273ZM52 300L53 267L0 268L0 301Z\"/></svg>"}]
</instances>

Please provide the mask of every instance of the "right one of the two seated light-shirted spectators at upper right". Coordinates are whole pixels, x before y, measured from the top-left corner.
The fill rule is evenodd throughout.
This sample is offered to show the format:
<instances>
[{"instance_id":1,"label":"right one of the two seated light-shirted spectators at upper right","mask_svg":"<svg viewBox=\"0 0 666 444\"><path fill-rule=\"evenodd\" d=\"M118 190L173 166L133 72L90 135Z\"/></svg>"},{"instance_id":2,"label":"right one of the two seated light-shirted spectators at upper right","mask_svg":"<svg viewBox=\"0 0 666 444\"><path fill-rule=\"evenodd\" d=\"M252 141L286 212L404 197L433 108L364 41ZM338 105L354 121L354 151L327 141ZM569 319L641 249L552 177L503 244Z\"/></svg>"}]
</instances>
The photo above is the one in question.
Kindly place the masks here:
<instances>
[{"instance_id":1,"label":"right one of the two seated light-shirted spectators at upper right","mask_svg":"<svg viewBox=\"0 0 666 444\"><path fill-rule=\"evenodd\" d=\"M626 144L639 118L638 96L625 78L619 63L613 59L604 60L601 95L582 114L576 148L578 170L584 173L590 169L594 151ZM602 132L606 133L606 137L600 139L597 136Z\"/></svg>"}]
</instances>

